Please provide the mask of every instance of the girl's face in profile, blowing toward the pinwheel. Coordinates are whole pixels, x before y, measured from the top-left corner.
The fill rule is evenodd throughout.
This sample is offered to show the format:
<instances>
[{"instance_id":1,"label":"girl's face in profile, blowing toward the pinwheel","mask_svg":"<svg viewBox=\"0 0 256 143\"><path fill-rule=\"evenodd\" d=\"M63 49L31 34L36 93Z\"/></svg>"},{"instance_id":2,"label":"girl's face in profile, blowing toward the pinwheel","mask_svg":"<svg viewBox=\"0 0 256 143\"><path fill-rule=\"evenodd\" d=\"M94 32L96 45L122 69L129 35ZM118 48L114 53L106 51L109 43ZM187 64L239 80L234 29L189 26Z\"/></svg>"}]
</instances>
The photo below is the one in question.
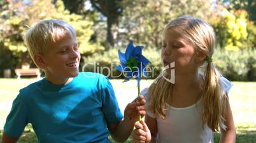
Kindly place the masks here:
<instances>
[{"instance_id":1,"label":"girl's face in profile, blowing toward the pinwheel","mask_svg":"<svg viewBox=\"0 0 256 143\"><path fill-rule=\"evenodd\" d=\"M194 47L184 35L177 32L178 30L180 29L170 28L165 32L161 59L164 67L175 62L175 75L184 75L196 71L199 62ZM168 68L166 73L169 75L171 69Z\"/></svg>"}]
</instances>

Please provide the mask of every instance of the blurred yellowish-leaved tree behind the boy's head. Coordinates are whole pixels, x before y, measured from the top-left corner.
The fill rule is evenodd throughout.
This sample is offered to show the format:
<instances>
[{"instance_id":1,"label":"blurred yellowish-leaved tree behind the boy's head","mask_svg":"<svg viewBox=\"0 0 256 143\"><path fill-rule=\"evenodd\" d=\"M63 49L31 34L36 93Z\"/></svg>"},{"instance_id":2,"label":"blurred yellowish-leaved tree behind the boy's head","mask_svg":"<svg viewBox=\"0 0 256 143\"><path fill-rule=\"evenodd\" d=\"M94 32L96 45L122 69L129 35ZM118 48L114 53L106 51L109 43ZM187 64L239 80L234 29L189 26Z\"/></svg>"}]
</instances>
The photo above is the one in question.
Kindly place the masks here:
<instances>
[{"instance_id":1,"label":"blurred yellowish-leaved tree behind the boy's head","mask_svg":"<svg viewBox=\"0 0 256 143\"><path fill-rule=\"evenodd\" d=\"M4 47L10 49L18 57L21 66L23 63L32 64L32 60L27 53L22 35L27 30L27 25L32 25L39 20L55 18L64 20L76 29L80 52L84 55L90 55L104 48L97 44L90 43L90 37L93 34L93 22L81 15L71 14L64 9L62 1L57 0L55 4L51 0L34 0L31 3L23 1L9 1L4 11L1 12L0 22L0 41Z\"/></svg>"}]
</instances>

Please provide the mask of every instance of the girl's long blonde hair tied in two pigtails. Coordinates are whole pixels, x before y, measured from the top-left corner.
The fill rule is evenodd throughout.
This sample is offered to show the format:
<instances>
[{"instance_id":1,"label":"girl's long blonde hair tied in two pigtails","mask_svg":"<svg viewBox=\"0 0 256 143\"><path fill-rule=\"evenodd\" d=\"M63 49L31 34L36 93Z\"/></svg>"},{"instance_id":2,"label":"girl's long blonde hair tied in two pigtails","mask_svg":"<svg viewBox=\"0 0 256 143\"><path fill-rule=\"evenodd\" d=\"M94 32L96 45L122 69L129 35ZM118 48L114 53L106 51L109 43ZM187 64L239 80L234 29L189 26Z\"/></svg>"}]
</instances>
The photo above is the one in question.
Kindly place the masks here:
<instances>
[{"instance_id":1,"label":"girl's long blonde hair tied in two pigtails","mask_svg":"<svg viewBox=\"0 0 256 143\"><path fill-rule=\"evenodd\" d=\"M211 62L215 47L215 34L213 28L203 20L190 16L181 16L169 22L164 28L164 32L170 28L178 28L178 32L184 35L193 45L197 53L205 54L201 66L204 66L204 87L203 87L203 125L207 124L211 130L218 130L218 126L226 128L224 125L225 116L225 95L224 89L220 85L220 74ZM206 66L206 67L205 67ZM167 82L160 75L155 79L148 89L150 104L146 107L160 118L166 117L166 102L172 91L172 84ZM166 75L164 75L166 76ZM202 125L202 126L203 126Z\"/></svg>"}]
</instances>

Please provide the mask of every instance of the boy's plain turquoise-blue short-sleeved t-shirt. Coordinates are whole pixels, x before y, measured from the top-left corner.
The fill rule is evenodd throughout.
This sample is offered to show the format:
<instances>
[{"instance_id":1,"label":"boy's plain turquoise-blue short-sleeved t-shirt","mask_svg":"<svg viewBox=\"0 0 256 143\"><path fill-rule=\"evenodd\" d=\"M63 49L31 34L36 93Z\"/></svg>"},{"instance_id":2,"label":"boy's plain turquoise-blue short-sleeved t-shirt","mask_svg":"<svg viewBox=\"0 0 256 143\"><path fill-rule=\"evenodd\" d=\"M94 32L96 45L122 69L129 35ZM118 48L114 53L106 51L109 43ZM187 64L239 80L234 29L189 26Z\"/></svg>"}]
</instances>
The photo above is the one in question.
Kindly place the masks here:
<instances>
[{"instance_id":1,"label":"boy's plain turquoise-blue short-sleeved t-shirt","mask_svg":"<svg viewBox=\"0 0 256 143\"><path fill-rule=\"evenodd\" d=\"M43 78L21 89L4 132L19 137L31 123L39 142L110 142L107 123L122 118L108 78L87 72L66 85Z\"/></svg>"}]
</instances>

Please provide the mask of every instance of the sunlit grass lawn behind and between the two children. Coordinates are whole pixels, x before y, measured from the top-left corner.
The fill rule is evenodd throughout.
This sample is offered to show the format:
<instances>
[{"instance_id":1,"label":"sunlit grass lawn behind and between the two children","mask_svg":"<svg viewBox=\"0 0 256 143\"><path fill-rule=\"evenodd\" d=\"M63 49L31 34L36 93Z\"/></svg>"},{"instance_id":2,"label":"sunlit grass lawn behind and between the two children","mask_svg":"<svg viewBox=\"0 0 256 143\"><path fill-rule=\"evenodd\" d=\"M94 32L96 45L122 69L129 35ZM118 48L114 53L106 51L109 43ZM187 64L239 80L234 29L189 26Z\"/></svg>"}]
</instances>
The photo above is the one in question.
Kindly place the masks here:
<instances>
[{"instance_id":1,"label":"sunlit grass lawn behind and between the two children","mask_svg":"<svg viewBox=\"0 0 256 143\"><path fill-rule=\"evenodd\" d=\"M0 141L6 116L18 90L35 81L36 79L0 78ZM151 82L152 80L143 80L141 89L150 85ZM136 97L136 81L122 83L122 80L111 80L111 83L117 94L118 104L123 111L125 105ZM229 93L229 99L237 130L237 142L256 142L256 82L232 83L234 86ZM215 142L218 142L219 137L220 134L215 133ZM19 142L37 142L31 125L27 125ZM131 137L126 142L131 142Z\"/></svg>"}]
</instances>

